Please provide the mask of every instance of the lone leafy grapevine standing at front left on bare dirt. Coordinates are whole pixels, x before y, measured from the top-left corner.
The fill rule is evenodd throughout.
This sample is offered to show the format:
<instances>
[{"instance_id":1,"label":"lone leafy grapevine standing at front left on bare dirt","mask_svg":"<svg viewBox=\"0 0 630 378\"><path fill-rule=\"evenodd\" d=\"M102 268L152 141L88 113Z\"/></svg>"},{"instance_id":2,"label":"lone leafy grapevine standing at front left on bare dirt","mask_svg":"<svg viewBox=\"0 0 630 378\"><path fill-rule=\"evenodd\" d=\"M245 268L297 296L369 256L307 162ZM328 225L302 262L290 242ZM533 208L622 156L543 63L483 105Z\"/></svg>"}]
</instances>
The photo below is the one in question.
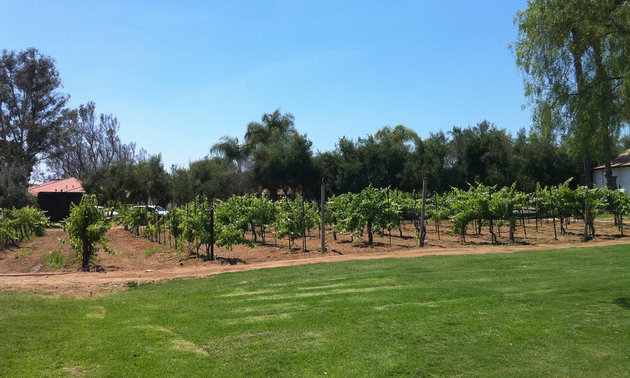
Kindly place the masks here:
<instances>
[{"instance_id":1,"label":"lone leafy grapevine standing at front left on bare dirt","mask_svg":"<svg viewBox=\"0 0 630 378\"><path fill-rule=\"evenodd\" d=\"M81 203L72 205L70 216L63 222L69 236L64 242L69 243L77 253L77 262L83 269L88 269L90 261L96 256L100 245L106 252L114 254L107 245L105 234L112 223L96 206L96 196L84 195Z\"/></svg>"}]
</instances>

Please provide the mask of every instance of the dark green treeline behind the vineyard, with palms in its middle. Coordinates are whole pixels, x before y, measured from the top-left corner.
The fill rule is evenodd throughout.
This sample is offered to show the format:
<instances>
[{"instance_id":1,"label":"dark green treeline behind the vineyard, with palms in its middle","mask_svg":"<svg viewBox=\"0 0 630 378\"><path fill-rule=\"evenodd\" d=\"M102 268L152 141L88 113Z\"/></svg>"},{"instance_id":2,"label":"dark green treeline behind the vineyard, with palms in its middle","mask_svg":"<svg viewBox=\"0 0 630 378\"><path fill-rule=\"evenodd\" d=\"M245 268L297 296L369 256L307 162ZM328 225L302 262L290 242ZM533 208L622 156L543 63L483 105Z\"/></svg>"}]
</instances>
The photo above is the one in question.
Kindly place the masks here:
<instances>
[{"instance_id":1,"label":"dark green treeline behind the vineyard, with palms in its middle","mask_svg":"<svg viewBox=\"0 0 630 378\"><path fill-rule=\"evenodd\" d=\"M620 140L618 150L625 148ZM521 130L516 136L483 121L431 133L421 139L402 125L384 127L356 140L341 138L333 151L313 153L294 117L279 110L251 122L240 143L223 137L210 155L188 167L164 168L160 155L119 160L82 175L85 189L102 203L182 205L198 195L300 194L318 199L322 178L328 195L358 193L369 185L413 191L426 175L432 192L468 188L468 183L533 192L536 184L557 186L572 178L586 182L582 162L553 135Z\"/></svg>"}]
</instances>

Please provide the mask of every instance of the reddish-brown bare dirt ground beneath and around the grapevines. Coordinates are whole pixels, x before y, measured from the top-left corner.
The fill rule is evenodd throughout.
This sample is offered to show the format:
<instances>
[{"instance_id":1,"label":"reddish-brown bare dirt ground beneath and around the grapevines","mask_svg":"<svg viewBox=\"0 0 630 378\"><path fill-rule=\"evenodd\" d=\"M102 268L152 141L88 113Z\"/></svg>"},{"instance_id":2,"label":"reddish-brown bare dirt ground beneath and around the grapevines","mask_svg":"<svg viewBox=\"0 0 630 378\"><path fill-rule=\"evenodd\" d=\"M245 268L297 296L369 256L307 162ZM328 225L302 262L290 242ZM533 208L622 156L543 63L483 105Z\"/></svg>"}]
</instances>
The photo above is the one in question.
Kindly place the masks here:
<instances>
[{"instance_id":1,"label":"reddish-brown bare dirt ground beneath and around the grapevines","mask_svg":"<svg viewBox=\"0 0 630 378\"><path fill-rule=\"evenodd\" d=\"M96 269L82 272L75 264L75 253L68 244L60 239L67 238L62 229L48 229L44 236L34 238L20 245L8 246L0 251L0 291L32 291L54 297L90 297L124 290L140 282L159 281L183 277L200 277L210 274L234 272L268 267L293 266L300 264L333 262L357 259L375 259L391 257L415 257L422 255L444 254L481 254L509 253L521 250L541 250L630 243L630 238L621 236L612 219L598 219L595 223L597 236L588 243L582 242L584 224L573 221L566 227L566 234L560 234L554 240L553 223L550 220L535 222L519 221L516 243L507 240L508 229L501 228L498 244L491 243L487 227L475 235L471 227L462 242L458 235L448 233L450 224L444 222L438 235L435 224L427 227L427 239L424 248L418 247L414 238L411 222L402 227L402 237L398 229L387 231L384 236L374 236L374 243L368 245L367 235L352 238L349 235L336 235L330 230L326 235L327 251L318 249L321 241L317 230L306 238L306 251L302 250L303 240L297 240L289 248L288 240L274 240L271 233L266 235L265 243L258 237L255 248L235 246L230 251L215 248L216 261L206 261L203 255L198 257L188 252L177 253L172 243L157 243L114 226L107 234L110 247L117 253L109 255L101 251L96 258ZM498 236L498 230L495 232ZM248 235L252 238L252 235ZM299 248L298 248L299 247ZM630 246L629 246L630 247ZM52 271L45 264L45 255L60 251L69 264Z\"/></svg>"}]
</instances>

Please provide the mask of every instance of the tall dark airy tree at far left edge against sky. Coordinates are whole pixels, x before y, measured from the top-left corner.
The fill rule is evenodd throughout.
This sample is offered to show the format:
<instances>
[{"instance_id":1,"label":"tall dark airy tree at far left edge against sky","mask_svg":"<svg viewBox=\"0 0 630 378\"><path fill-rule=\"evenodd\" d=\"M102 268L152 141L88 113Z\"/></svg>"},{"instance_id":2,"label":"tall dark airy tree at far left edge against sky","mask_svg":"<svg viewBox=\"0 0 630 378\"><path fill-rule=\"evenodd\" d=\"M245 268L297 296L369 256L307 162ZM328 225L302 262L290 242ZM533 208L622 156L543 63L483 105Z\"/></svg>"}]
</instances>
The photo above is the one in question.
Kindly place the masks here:
<instances>
[{"instance_id":1,"label":"tall dark airy tree at far left edge against sky","mask_svg":"<svg viewBox=\"0 0 630 378\"><path fill-rule=\"evenodd\" d=\"M33 167L58 144L68 95L58 92L55 61L35 48L3 50L0 59L0 163L20 171L26 190Z\"/></svg>"}]
</instances>

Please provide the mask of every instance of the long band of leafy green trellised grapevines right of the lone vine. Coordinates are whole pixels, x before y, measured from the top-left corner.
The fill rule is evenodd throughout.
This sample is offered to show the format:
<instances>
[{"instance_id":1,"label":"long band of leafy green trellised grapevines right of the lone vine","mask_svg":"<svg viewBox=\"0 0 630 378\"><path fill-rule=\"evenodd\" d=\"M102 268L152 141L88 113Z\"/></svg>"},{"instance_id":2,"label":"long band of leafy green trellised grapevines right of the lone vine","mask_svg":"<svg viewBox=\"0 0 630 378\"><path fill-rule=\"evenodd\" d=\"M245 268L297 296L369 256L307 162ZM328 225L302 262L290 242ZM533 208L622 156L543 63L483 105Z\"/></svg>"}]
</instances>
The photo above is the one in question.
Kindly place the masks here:
<instances>
[{"instance_id":1,"label":"long band of leafy green trellised grapevines right of the lone vine","mask_svg":"<svg viewBox=\"0 0 630 378\"><path fill-rule=\"evenodd\" d=\"M468 190L453 188L445 195L434 194L427 198L425 219L436 222L439 238L439 226L443 220L453 222L451 231L460 235L465 242L471 224L475 233L481 234L482 227L489 225L494 235L494 225L510 225L510 241L515 242L516 220L523 211L534 211L537 216L551 216L560 219L560 229L569 217L583 219L586 196L589 198L589 224L594 234L593 219L603 211L615 214L619 221L630 212L628 197L618 191L583 187L570 188L571 179L559 186L536 186L536 191L527 194L519 191L516 184L496 189L480 183L469 185ZM353 237L368 234L368 243L373 242L373 234L385 235L395 228L401 229L403 219L413 219L417 236L420 236L421 198L417 193L405 193L389 188L377 189L369 186L360 193L346 193L330 197L326 203L326 222L333 232L349 233ZM202 246L209 251L212 241L211 216L207 199L198 197L194 202L181 207L171 208L165 218L155 219L146 215L144 208L121 210L121 224L131 231L145 225L143 236L157 238L163 232L169 232L175 240L178 250L186 246L192 254L199 254ZM268 230L274 232L276 239L289 238L289 245L304 237L309 230L320 222L318 204L296 199L283 198L272 202L265 196L232 196L225 201L214 203L214 245L231 249L233 245L253 246L254 242ZM137 232L137 231L136 231ZM254 242L246 238L251 232Z\"/></svg>"}]
</instances>

